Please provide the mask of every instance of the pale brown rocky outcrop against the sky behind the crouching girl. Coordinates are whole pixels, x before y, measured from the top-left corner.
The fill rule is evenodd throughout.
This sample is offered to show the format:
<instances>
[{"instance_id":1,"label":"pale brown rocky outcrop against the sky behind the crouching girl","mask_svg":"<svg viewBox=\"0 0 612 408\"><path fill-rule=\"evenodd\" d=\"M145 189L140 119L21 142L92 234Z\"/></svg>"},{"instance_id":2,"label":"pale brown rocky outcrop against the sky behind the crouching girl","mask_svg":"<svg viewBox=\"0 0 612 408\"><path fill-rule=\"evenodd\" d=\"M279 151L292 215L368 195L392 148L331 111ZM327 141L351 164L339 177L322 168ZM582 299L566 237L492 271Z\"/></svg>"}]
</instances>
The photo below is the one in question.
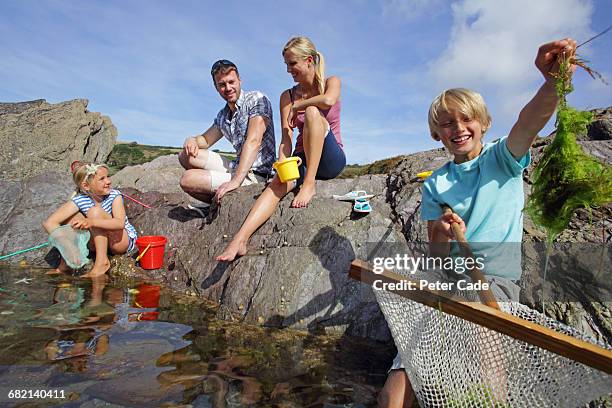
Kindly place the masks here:
<instances>
[{"instance_id":1,"label":"pale brown rocky outcrop against the sky behind the crouching girl","mask_svg":"<svg viewBox=\"0 0 612 408\"><path fill-rule=\"evenodd\" d=\"M57 104L36 100L0 104L0 175L23 180L57 171L74 160L105 162L117 139L107 116L87 110L86 99Z\"/></svg>"}]
</instances>

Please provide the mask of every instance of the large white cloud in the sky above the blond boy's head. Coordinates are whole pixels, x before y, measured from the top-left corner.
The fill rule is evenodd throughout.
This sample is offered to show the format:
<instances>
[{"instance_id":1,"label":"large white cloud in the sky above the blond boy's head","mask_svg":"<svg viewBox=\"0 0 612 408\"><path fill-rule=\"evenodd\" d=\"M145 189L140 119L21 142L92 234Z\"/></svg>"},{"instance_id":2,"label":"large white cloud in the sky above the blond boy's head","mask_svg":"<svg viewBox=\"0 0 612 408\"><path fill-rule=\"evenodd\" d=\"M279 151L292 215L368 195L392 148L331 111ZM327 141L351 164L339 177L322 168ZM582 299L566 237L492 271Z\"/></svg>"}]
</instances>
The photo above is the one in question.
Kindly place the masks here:
<instances>
[{"instance_id":1,"label":"large white cloud in the sky above the blond boy's head","mask_svg":"<svg viewBox=\"0 0 612 408\"><path fill-rule=\"evenodd\" d=\"M539 45L566 36L587 38L590 2L583 0L465 0L454 3L447 48L430 64L439 88L517 89L538 78Z\"/></svg>"}]
</instances>

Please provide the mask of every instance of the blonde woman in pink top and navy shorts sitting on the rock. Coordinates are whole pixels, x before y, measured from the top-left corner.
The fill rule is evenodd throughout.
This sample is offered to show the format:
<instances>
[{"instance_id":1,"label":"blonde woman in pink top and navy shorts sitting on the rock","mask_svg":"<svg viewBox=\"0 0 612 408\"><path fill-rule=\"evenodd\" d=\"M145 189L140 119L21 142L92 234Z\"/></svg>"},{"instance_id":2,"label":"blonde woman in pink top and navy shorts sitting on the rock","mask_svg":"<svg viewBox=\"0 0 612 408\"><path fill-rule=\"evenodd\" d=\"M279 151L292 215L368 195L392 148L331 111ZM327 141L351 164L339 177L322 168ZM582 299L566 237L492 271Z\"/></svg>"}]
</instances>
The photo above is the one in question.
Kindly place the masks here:
<instances>
[{"instance_id":1,"label":"blonde woman in pink top and navy shorts sitting on the rock","mask_svg":"<svg viewBox=\"0 0 612 408\"><path fill-rule=\"evenodd\" d=\"M299 187L291 206L307 207L316 194L315 179L337 177L346 165L340 138L340 78L325 78L323 55L306 37L290 39L283 48L283 58L297 85L280 97L282 138L278 155L281 161L291 155L293 130L297 127L293 156L302 158L300 178L281 183L278 176L274 177L218 261L233 261L246 254L251 235L272 216L287 193Z\"/></svg>"}]
</instances>

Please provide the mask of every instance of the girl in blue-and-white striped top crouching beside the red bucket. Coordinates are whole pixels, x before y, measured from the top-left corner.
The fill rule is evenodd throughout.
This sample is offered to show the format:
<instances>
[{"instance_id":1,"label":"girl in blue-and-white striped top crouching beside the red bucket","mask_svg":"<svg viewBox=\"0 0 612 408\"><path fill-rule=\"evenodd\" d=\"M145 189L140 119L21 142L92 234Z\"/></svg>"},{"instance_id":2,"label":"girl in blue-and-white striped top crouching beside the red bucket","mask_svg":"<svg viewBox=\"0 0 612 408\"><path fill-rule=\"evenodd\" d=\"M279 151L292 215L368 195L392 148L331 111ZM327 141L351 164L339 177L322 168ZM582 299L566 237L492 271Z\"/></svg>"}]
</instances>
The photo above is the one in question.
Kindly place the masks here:
<instances>
[{"instance_id":1,"label":"girl in blue-and-white striped top crouching beside the red bucket","mask_svg":"<svg viewBox=\"0 0 612 408\"><path fill-rule=\"evenodd\" d=\"M76 192L47 218L43 227L48 233L64 224L88 229L91 233L89 247L95 250L96 260L84 276L101 276L110 268L109 252L124 254L134 249L136 229L125 215L121 192L111 188L106 165L75 162L71 169ZM56 271L69 270L62 259Z\"/></svg>"}]
</instances>

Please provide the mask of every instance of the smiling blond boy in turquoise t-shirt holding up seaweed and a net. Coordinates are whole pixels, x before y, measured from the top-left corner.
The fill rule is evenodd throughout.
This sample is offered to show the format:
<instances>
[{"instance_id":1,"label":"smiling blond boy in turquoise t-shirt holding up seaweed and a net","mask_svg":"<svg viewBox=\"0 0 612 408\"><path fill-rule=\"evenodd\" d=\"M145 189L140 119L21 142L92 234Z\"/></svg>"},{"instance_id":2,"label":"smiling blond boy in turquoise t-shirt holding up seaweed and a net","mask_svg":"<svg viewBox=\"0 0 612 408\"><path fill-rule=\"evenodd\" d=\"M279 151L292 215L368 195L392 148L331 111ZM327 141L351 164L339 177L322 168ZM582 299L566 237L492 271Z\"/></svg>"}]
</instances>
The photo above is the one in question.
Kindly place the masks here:
<instances>
[{"instance_id":1,"label":"smiling blond boy in turquoise t-shirt holding up seaweed and a net","mask_svg":"<svg viewBox=\"0 0 612 408\"><path fill-rule=\"evenodd\" d=\"M431 137L454 156L423 185L421 217L427 221L430 256L449 256L455 238L451 225L458 223L476 256L484 255L483 272L488 279L500 281L506 299L498 300L518 300L518 287L511 281L521 273L522 172L529 165L529 148L557 107L557 58L575 51L576 42L570 38L539 48L535 65L545 82L525 105L510 134L495 142L482 143L491 116L478 93L449 89L429 108ZM443 215L442 204L455 213ZM516 253L513 246L518 256L512 256ZM414 392L396 358L379 395L379 406L410 407L413 401Z\"/></svg>"}]
</instances>

